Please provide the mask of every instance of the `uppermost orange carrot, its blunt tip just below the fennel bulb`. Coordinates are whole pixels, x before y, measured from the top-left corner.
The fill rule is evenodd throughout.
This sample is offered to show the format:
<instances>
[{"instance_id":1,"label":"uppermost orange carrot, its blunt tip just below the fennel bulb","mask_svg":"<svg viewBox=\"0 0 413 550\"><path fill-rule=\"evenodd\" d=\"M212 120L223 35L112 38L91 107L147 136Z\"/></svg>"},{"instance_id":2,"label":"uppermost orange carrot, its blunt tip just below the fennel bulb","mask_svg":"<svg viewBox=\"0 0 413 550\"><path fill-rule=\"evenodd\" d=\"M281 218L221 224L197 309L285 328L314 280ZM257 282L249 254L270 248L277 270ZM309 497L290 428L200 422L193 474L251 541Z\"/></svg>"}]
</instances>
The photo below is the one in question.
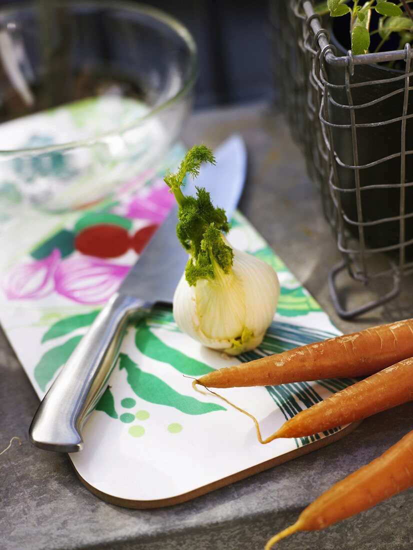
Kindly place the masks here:
<instances>
[{"instance_id":1,"label":"uppermost orange carrot, its blunt tip just below the fennel bulb","mask_svg":"<svg viewBox=\"0 0 413 550\"><path fill-rule=\"evenodd\" d=\"M413 356L413 319L300 346L224 367L197 383L210 388L276 386L321 378L368 376Z\"/></svg>"}]
</instances>

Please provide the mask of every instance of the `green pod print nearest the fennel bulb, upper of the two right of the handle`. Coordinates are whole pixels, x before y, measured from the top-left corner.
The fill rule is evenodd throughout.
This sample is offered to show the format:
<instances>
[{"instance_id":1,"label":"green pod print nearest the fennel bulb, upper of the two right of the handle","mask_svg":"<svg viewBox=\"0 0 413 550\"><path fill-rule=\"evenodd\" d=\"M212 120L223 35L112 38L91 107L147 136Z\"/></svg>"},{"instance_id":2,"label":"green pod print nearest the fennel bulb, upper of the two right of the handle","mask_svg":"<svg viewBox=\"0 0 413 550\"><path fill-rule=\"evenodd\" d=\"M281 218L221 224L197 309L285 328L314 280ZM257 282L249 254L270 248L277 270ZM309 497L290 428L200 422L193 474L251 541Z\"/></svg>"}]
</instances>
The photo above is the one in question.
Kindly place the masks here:
<instances>
[{"instance_id":1,"label":"green pod print nearest the fennel bulb, upper of the two right of the handle","mask_svg":"<svg viewBox=\"0 0 413 550\"><path fill-rule=\"evenodd\" d=\"M144 320L136 325L135 344L137 349L150 359L168 363L187 376L202 376L214 370L205 363L164 344L153 334Z\"/></svg>"}]
</instances>

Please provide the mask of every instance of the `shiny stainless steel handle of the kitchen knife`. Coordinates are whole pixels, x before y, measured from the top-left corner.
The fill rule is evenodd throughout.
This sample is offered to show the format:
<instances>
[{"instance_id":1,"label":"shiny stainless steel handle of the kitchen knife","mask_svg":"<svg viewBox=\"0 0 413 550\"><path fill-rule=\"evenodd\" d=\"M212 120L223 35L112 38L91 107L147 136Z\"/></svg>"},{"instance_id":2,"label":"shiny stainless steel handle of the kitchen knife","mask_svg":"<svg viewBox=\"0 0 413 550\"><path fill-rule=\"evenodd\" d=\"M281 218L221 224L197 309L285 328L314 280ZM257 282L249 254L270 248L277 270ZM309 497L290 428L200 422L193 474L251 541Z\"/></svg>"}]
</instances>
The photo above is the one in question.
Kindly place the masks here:
<instances>
[{"instance_id":1,"label":"shiny stainless steel handle of the kitchen knife","mask_svg":"<svg viewBox=\"0 0 413 550\"><path fill-rule=\"evenodd\" d=\"M128 321L151 305L133 296L112 296L37 409L29 428L36 447L61 453L82 449L81 427L101 397Z\"/></svg>"}]
</instances>

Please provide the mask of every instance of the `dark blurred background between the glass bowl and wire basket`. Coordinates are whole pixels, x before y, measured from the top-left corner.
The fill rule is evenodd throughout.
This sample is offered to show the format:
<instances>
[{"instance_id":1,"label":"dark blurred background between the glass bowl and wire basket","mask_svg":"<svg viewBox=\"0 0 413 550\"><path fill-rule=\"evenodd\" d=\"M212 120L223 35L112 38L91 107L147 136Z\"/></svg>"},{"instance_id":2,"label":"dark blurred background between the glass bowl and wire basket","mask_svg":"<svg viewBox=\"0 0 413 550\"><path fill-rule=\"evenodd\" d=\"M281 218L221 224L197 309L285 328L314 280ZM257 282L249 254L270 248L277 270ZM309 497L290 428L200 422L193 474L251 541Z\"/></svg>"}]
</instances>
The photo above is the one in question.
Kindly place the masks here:
<instances>
[{"instance_id":1,"label":"dark blurred background between the glass bowl and wire basket","mask_svg":"<svg viewBox=\"0 0 413 550\"><path fill-rule=\"evenodd\" d=\"M281 0L279 0L281 1ZM0 0L5 5L24 0ZM195 108L272 96L267 0L148 0L184 23L199 49Z\"/></svg>"}]
</instances>

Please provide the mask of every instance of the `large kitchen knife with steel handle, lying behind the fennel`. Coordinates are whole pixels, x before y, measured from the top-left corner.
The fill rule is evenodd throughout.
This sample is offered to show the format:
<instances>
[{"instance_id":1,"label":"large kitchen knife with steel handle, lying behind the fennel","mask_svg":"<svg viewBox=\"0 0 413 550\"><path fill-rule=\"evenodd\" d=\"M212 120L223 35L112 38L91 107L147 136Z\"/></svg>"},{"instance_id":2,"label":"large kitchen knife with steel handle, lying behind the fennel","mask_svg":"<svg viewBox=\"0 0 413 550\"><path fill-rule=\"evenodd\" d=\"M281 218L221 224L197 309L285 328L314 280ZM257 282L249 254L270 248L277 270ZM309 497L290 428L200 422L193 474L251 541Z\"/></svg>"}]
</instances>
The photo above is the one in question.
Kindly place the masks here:
<instances>
[{"instance_id":1,"label":"large kitchen knife with steel handle, lying behind the fennel","mask_svg":"<svg viewBox=\"0 0 413 550\"><path fill-rule=\"evenodd\" d=\"M216 164L203 165L196 182L188 178L185 193L194 194L195 184L205 187L231 219L246 174L243 139L232 136L214 155ZM172 302L188 262L176 236L177 212L175 206L41 401L29 428L36 447L61 453L82 449L81 429L106 388L128 323L157 302Z\"/></svg>"}]
</instances>

